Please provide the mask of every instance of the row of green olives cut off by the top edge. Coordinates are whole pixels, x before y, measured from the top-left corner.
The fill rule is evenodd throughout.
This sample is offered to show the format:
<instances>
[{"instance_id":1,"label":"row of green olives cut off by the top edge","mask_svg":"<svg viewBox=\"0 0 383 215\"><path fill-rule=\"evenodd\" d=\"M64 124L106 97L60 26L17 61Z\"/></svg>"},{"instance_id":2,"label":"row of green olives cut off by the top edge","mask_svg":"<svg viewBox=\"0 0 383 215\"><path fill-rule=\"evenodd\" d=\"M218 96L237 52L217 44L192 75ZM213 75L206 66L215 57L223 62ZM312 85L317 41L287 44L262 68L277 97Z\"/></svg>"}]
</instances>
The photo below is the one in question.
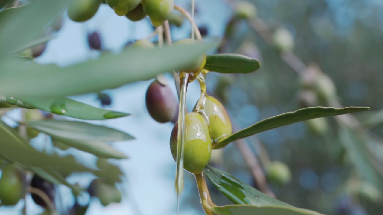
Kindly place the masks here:
<instances>
[{"instance_id":1,"label":"row of green olives cut off by the top edge","mask_svg":"<svg viewBox=\"0 0 383 215\"><path fill-rule=\"evenodd\" d=\"M170 18L174 5L173 0L71 0L68 16L76 22L87 21L96 14L101 3L109 5L117 15L126 16L132 21L149 16L156 27Z\"/></svg>"}]
</instances>

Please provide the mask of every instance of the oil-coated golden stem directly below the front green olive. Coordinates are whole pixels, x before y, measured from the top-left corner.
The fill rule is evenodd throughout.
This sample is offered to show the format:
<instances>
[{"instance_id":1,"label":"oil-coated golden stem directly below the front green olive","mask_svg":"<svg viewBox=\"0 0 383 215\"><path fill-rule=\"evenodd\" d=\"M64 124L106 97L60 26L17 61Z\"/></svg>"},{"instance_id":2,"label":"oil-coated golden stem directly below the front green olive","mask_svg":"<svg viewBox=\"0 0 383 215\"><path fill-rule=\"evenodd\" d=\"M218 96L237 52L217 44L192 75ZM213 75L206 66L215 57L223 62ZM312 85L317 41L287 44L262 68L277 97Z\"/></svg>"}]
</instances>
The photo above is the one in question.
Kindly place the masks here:
<instances>
[{"instance_id":1,"label":"oil-coated golden stem directly below the front green olive","mask_svg":"<svg viewBox=\"0 0 383 215\"><path fill-rule=\"evenodd\" d=\"M198 192L200 193L200 201L203 210L205 211L206 215L213 215L213 212L211 212L210 208L216 205L211 200L205 177L203 176L203 173L198 173L194 176L197 181Z\"/></svg>"}]
</instances>

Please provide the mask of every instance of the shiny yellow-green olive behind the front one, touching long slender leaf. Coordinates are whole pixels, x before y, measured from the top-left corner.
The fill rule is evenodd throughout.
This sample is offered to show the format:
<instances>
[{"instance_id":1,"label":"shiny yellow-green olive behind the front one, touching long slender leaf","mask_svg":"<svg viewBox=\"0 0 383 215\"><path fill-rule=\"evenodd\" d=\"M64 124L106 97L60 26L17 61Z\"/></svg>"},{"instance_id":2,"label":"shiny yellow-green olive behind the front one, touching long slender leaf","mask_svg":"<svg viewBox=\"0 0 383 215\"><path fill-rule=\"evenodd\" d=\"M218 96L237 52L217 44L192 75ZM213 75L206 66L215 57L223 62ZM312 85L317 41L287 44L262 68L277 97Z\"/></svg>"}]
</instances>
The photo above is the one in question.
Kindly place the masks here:
<instances>
[{"instance_id":1,"label":"shiny yellow-green olive behind the front one, touching long slender leaf","mask_svg":"<svg viewBox=\"0 0 383 215\"><path fill-rule=\"evenodd\" d=\"M203 109L209 121L209 130L213 143L232 134L231 121L225 107L213 96L206 95L202 101Z\"/></svg>"}]
</instances>

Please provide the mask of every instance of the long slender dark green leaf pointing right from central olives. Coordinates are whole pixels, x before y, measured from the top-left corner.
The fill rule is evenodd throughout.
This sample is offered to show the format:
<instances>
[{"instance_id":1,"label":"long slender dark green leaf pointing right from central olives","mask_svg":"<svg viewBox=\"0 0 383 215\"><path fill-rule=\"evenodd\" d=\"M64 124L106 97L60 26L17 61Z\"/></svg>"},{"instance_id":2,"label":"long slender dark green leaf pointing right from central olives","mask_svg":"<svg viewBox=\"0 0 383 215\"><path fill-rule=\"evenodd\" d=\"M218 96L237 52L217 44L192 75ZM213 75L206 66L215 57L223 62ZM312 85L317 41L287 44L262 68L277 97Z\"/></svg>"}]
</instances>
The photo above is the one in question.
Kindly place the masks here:
<instances>
[{"instance_id":1,"label":"long slender dark green leaf pointing right from central olives","mask_svg":"<svg viewBox=\"0 0 383 215\"><path fill-rule=\"evenodd\" d=\"M315 119L319 117L327 117L327 116L336 116L342 114L349 114L353 112L359 111L367 111L370 108L368 107L346 107L346 108L324 108L324 107L312 107L312 108L303 108L296 110L294 112L287 112L284 114L280 114L278 116L273 116L267 119L264 119L260 122L247 127L246 129L240 130L235 134L230 135L229 137L224 138L219 141L216 145L213 146L214 149L222 148L229 143L249 137L254 134L258 134L260 132L264 132L270 129L275 129L277 127L281 127L283 125L293 124L295 122L306 121L309 119Z\"/></svg>"}]
</instances>

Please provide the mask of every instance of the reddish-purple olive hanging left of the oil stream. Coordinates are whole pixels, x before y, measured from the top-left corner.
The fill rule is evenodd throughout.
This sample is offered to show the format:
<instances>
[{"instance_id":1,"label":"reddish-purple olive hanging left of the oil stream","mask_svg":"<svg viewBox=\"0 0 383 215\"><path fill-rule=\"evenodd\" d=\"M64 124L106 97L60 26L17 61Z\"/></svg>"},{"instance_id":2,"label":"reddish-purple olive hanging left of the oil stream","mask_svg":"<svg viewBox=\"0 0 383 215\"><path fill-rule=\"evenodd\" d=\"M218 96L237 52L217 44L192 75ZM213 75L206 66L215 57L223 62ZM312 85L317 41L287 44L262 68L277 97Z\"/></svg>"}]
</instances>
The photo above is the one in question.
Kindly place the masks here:
<instances>
[{"instance_id":1,"label":"reddish-purple olive hanging left of the oil stream","mask_svg":"<svg viewBox=\"0 0 383 215\"><path fill-rule=\"evenodd\" d=\"M146 109L155 121L165 123L177 115L178 103L170 87L155 80L146 91Z\"/></svg>"}]
</instances>

